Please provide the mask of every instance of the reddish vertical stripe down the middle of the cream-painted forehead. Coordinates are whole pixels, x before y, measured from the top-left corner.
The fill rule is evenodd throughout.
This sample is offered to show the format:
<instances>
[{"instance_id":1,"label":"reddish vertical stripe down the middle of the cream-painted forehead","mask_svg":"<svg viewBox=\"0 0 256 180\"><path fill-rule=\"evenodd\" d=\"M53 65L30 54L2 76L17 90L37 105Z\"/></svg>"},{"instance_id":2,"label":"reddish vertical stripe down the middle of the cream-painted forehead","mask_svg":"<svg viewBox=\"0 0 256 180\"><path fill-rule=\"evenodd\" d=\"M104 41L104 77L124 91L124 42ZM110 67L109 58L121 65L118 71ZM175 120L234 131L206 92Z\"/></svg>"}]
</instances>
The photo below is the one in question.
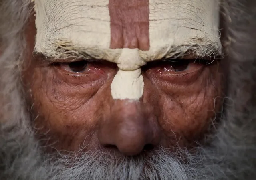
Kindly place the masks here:
<instances>
[{"instance_id":1,"label":"reddish vertical stripe down the middle of the cream-painted forehead","mask_svg":"<svg viewBox=\"0 0 256 180\"><path fill-rule=\"evenodd\" d=\"M149 0L109 0L110 48L149 50Z\"/></svg>"}]
</instances>

